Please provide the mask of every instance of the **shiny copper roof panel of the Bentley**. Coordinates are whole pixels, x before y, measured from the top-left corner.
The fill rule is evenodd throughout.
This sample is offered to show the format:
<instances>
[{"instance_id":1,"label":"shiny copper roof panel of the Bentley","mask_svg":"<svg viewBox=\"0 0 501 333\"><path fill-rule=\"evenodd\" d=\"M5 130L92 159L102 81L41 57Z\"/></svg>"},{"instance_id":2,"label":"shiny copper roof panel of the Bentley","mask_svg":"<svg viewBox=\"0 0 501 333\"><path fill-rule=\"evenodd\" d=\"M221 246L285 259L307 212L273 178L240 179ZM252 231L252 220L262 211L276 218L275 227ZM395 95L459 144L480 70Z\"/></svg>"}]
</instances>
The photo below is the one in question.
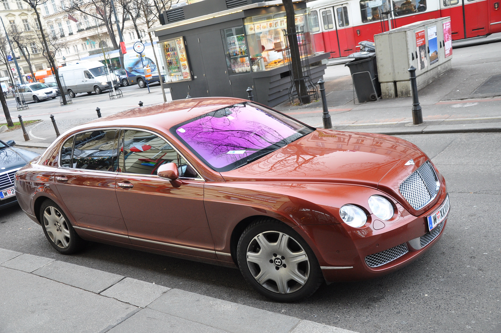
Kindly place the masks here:
<instances>
[{"instance_id":1,"label":"shiny copper roof panel of the Bentley","mask_svg":"<svg viewBox=\"0 0 501 333\"><path fill-rule=\"evenodd\" d=\"M243 101L248 102L248 100L245 99L232 97L179 99L166 103L138 107L98 118L78 126L78 129L84 129L86 127L95 128L97 126L140 126L158 128L166 132L174 125Z\"/></svg>"}]
</instances>

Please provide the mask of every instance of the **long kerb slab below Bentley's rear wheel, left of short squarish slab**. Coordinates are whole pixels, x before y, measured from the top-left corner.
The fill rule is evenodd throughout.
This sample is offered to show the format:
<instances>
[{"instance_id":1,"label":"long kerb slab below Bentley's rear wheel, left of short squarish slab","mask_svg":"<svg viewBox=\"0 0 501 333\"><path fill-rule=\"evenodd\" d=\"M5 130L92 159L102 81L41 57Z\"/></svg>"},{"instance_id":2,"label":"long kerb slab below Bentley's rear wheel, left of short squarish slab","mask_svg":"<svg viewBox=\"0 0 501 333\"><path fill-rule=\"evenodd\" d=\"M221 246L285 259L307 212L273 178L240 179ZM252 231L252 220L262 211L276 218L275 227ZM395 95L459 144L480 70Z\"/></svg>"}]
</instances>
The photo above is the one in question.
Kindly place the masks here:
<instances>
[{"instance_id":1,"label":"long kerb slab below Bentley's rear wheel, left of short squarish slab","mask_svg":"<svg viewBox=\"0 0 501 333\"><path fill-rule=\"evenodd\" d=\"M104 272L94 268L70 264L64 261L54 261L33 274L47 277L78 288L100 293L106 288L122 280L124 276Z\"/></svg>"}]
</instances>

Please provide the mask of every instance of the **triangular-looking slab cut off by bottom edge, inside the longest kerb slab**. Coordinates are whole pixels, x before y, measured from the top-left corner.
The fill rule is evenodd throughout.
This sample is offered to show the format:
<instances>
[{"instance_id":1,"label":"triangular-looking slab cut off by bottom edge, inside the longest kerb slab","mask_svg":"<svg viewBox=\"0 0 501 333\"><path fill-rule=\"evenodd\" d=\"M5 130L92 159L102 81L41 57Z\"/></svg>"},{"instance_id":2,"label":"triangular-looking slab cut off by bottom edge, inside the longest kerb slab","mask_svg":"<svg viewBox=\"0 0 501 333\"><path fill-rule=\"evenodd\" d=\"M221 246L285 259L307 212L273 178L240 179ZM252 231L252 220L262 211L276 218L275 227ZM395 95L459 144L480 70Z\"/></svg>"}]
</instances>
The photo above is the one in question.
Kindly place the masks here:
<instances>
[{"instance_id":1,"label":"triangular-looking slab cut off by bottom edge, inside the longest kerb slab","mask_svg":"<svg viewBox=\"0 0 501 333\"><path fill-rule=\"evenodd\" d=\"M167 313L143 309L107 333L224 333L226 330L179 318Z\"/></svg>"}]
</instances>

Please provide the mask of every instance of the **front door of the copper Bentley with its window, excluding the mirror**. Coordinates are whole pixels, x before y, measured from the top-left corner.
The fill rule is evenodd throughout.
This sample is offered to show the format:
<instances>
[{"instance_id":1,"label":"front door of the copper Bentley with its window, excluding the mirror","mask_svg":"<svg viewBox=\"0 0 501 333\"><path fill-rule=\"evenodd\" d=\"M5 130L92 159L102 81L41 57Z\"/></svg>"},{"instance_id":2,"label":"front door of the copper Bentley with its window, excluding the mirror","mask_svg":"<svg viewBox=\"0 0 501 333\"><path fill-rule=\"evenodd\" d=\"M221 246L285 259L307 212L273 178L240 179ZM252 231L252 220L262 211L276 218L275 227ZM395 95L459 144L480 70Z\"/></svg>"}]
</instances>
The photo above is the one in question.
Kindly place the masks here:
<instances>
[{"instance_id":1,"label":"front door of the copper Bentley with its window, excluding the mirror","mask_svg":"<svg viewBox=\"0 0 501 333\"><path fill-rule=\"evenodd\" d=\"M182 185L174 188L156 175L174 162ZM203 205L204 180L158 135L133 129L120 133L117 198L132 244L215 258Z\"/></svg>"}]
</instances>

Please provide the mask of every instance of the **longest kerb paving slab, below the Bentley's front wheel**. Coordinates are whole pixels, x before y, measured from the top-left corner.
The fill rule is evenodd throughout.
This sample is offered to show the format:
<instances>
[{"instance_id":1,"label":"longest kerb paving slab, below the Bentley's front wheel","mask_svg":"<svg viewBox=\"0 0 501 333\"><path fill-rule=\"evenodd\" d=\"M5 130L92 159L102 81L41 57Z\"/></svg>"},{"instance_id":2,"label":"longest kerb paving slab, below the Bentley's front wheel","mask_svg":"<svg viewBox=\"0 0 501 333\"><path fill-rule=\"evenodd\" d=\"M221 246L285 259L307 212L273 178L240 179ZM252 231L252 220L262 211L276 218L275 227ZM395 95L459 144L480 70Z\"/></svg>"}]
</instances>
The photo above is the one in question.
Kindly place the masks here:
<instances>
[{"instance_id":1,"label":"longest kerb paving slab, below the Bentley's front wheel","mask_svg":"<svg viewBox=\"0 0 501 333\"><path fill-rule=\"evenodd\" d=\"M149 308L235 333L289 332L299 318L171 289Z\"/></svg>"}]
</instances>

